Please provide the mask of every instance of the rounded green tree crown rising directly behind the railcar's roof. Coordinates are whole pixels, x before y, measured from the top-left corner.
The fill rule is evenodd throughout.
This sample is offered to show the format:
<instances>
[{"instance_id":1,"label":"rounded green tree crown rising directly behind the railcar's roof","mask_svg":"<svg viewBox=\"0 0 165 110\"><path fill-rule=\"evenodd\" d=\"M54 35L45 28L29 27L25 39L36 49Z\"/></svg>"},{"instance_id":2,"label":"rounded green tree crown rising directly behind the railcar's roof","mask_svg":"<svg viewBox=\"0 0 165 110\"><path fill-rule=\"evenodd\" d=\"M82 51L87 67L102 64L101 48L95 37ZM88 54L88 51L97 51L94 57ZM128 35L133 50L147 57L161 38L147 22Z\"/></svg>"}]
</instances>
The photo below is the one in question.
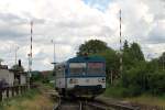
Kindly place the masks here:
<instances>
[{"instance_id":1,"label":"rounded green tree crown rising directly behind the railcar's roof","mask_svg":"<svg viewBox=\"0 0 165 110\"><path fill-rule=\"evenodd\" d=\"M85 44L81 44L79 46L79 50L77 52L77 56L81 56L84 54L96 54L103 52L108 50L107 43L99 41L99 40L90 40L88 42L85 42Z\"/></svg>"}]
</instances>

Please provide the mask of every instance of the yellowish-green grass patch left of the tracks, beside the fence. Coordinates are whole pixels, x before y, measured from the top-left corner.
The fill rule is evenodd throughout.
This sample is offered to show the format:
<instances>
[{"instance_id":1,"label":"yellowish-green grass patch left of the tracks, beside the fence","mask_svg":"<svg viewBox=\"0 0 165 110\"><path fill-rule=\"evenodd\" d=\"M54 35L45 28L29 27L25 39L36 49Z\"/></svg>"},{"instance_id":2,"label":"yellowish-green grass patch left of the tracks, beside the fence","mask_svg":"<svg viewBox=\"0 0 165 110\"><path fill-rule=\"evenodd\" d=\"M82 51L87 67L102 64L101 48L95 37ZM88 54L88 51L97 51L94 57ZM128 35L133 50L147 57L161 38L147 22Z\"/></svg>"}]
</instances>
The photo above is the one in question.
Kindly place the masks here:
<instances>
[{"instance_id":1,"label":"yellowish-green grass patch left of the tracks, beside the fence","mask_svg":"<svg viewBox=\"0 0 165 110\"><path fill-rule=\"evenodd\" d=\"M37 89L29 90L23 96L4 100L0 110L51 110L52 100L42 95Z\"/></svg>"}]
</instances>

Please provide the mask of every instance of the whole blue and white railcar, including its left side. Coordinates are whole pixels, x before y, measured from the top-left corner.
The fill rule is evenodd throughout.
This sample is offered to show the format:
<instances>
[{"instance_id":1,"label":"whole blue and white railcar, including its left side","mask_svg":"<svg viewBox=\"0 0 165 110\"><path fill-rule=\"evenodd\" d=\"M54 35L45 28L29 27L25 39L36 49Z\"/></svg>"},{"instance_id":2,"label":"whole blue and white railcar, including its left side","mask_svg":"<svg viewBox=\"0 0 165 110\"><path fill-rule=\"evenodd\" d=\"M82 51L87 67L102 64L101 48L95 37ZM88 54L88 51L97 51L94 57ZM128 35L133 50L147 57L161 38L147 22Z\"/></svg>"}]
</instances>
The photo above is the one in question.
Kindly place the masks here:
<instances>
[{"instance_id":1,"label":"whole blue and white railcar, including its left side","mask_svg":"<svg viewBox=\"0 0 165 110\"><path fill-rule=\"evenodd\" d=\"M102 57L74 57L56 65L55 87L62 95L102 94L106 89L106 63Z\"/></svg>"}]
</instances>

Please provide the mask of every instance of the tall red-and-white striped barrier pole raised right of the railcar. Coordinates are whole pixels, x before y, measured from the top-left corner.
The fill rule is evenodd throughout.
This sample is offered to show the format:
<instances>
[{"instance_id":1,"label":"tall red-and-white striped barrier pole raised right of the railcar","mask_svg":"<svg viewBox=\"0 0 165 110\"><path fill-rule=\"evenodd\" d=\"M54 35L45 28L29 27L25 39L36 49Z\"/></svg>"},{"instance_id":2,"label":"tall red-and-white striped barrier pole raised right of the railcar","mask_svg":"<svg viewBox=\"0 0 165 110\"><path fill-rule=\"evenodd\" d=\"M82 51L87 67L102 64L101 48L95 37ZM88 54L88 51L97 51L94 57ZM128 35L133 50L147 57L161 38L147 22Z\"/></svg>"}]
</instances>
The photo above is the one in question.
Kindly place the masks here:
<instances>
[{"instance_id":1,"label":"tall red-and-white striped barrier pole raised right of the railcar","mask_svg":"<svg viewBox=\"0 0 165 110\"><path fill-rule=\"evenodd\" d=\"M120 76L122 77L122 37L121 37L121 10L120 14Z\"/></svg>"}]
</instances>

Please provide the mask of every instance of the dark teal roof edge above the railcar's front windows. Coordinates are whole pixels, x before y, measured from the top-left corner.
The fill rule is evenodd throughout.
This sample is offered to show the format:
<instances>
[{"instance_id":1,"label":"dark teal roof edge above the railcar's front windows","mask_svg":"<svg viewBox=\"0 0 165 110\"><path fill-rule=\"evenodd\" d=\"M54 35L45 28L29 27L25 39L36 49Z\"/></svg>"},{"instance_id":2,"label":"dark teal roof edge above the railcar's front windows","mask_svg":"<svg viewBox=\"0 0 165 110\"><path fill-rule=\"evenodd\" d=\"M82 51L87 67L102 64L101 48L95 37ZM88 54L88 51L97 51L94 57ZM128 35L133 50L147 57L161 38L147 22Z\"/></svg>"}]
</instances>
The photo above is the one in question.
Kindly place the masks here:
<instances>
[{"instance_id":1,"label":"dark teal roof edge above the railcar's front windows","mask_svg":"<svg viewBox=\"0 0 165 110\"><path fill-rule=\"evenodd\" d=\"M78 56L69 58L67 62L105 62L105 58L100 56Z\"/></svg>"}]
</instances>

